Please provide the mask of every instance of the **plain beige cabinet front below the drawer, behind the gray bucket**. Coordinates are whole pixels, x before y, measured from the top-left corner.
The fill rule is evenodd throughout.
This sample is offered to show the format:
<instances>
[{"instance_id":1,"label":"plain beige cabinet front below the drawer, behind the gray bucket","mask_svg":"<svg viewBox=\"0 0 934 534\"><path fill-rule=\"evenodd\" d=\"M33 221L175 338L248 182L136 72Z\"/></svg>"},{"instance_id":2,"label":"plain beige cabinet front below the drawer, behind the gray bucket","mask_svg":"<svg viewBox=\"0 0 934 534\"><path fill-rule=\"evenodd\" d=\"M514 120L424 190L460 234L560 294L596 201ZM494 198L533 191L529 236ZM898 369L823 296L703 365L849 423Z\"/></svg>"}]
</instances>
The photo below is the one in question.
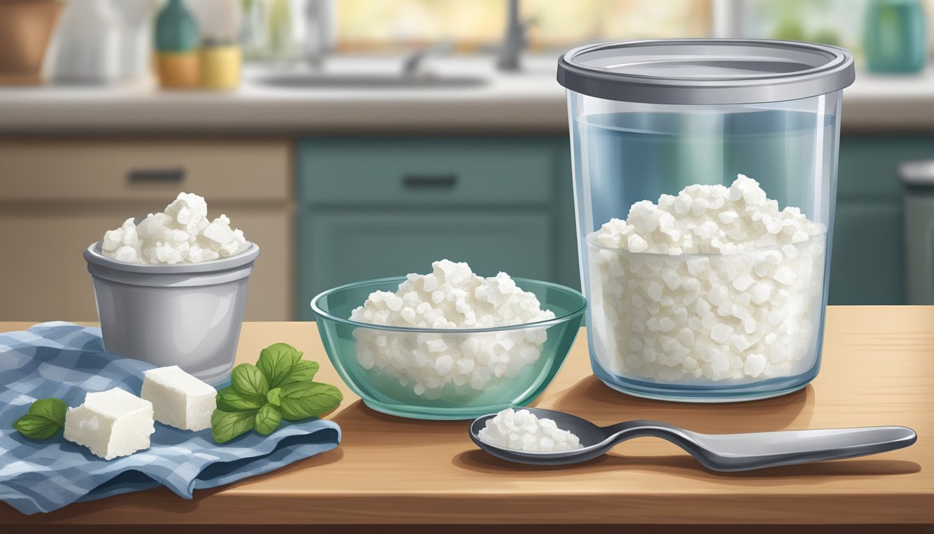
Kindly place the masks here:
<instances>
[{"instance_id":1,"label":"plain beige cabinet front below the drawer, behind the gray bucket","mask_svg":"<svg viewBox=\"0 0 934 534\"><path fill-rule=\"evenodd\" d=\"M260 245L249 279L246 319L292 318L292 213L285 208L209 204ZM0 321L97 321L91 275L83 250L132 213L123 208L70 212L0 209Z\"/></svg>"}]
</instances>

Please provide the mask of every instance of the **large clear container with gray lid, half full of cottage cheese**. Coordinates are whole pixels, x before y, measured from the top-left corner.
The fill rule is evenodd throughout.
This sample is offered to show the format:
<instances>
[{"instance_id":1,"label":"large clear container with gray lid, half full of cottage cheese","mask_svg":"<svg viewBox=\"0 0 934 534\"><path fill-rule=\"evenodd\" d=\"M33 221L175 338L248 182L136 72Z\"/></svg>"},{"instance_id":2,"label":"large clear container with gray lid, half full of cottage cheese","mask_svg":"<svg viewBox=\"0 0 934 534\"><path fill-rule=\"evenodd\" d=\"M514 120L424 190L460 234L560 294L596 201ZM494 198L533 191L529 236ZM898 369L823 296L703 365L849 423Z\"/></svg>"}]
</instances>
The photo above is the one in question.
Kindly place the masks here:
<instances>
[{"instance_id":1,"label":"large clear container with gray lid, half full of cottage cheese","mask_svg":"<svg viewBox=\"0 0 934 534\"><path fill-rule=\"evenodd\" d=\"M630 41L568 52L558 79L568 89L594 373L631 395L701 402L773 397L814 380L852 55L789 41ZM626 220L636 202L729 187L739 174L778 209L800 209L807 234L701 252L598 242L601 226ZM728 226L713 208L695 215Z\"/></svg>"}]
</instances>

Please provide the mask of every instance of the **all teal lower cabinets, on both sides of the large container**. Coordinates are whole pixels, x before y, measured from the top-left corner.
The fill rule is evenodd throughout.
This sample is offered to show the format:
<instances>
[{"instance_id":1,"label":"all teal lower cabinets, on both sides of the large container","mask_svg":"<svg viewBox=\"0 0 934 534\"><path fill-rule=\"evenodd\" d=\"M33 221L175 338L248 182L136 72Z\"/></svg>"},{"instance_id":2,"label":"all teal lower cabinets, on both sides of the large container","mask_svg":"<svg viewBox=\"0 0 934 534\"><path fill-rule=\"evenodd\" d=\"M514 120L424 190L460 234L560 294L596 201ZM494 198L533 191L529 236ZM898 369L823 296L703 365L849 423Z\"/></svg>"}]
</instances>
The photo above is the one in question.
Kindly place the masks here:
<instances>
[{"instance_id":1,"label":"all teal lower cabinets, on both sides of the large container","mask_svg":"<svg viewBox=\"0 0 934 534\"><path fill-rule=\"evenodd\" d=\"M580 285L566 137L307 137L296 155L298 318L324 289L440 257ZM904 303L898 166L930 157L934 137L842 137L831 304Z\"/></svg>"}]
</instances>

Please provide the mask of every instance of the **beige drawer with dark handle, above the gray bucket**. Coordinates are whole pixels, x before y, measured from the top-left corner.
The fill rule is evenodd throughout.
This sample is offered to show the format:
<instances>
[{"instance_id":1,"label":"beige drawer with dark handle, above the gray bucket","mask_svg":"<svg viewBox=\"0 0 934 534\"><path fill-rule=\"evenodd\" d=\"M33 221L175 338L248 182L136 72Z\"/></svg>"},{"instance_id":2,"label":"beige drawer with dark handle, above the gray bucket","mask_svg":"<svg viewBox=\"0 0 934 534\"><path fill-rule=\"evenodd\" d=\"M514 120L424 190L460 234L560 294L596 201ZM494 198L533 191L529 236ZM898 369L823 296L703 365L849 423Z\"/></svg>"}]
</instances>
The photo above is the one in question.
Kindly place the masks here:
<instances>
[{"instance_id":1,"label":"beige drawer with dark handle, above the gray bucket","mask_svg":"<svg viewBox=\"0 0 934 534\"><path fill-rule=\"evenodd\" d=\"M216 202L290 196L287 139L0 139L0 202Z\"/></svg>"}]
</instances>

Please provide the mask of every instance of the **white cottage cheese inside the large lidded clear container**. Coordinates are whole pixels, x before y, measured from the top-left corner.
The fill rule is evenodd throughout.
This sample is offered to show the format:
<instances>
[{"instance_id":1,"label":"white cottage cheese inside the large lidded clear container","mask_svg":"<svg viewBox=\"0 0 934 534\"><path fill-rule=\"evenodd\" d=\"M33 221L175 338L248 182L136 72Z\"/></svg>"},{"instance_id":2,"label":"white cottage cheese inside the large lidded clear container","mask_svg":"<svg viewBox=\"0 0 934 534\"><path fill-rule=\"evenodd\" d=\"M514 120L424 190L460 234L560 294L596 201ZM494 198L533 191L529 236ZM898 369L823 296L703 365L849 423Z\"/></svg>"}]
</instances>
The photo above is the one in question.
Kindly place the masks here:
<instances>
[{"instance_id":1,"label":"white cottage cheese inside the large lidded clear container","mask_svg":"<svg viewBox=\"0 0 934 534\"><path fill-rule=\"evenodd\" d=\"M757 382L814 365L827 228L756 180L637 202L587 236L601 364L649 382Z\"/></svg>"}]
</instances>

